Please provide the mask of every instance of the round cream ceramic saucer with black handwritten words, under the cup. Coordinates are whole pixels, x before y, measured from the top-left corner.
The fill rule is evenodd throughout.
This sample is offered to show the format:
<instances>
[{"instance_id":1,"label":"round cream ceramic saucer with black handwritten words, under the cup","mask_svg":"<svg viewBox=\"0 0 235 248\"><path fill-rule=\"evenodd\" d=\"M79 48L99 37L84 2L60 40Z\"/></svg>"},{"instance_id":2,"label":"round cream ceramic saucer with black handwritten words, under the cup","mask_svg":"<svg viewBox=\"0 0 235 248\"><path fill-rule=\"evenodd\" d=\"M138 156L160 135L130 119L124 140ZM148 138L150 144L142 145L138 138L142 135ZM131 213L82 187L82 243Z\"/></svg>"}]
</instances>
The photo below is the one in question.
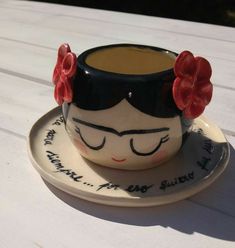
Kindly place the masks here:
<instances>
[{"instance_id":1,"label":"round cream ceramic saucer with black handwritten words, under the cup","mask_svg":"<svg viewBox=\"0 0 235 248\"><path fill-rule=\"evenodd\" d=\"M28 138L32 164L55 187L82 199L114 206L154 206L185 199L224 171L229 145L208 119L195 119L181 151L169 162L143 171L96 165L78 153L64 128L61 109L51 110Z\"/></svg>"}]
</instances>

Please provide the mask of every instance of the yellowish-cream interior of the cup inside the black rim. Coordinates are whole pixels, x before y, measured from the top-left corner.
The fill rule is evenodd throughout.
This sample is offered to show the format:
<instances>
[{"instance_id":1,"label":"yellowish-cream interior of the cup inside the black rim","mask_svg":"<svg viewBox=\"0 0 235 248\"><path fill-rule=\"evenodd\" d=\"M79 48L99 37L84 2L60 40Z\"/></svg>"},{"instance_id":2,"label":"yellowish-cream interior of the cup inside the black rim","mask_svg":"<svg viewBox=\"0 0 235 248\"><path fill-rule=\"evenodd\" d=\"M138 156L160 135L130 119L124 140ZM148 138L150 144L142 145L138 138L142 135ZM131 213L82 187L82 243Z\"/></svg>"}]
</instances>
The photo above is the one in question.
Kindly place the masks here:
<instances>
[{"instance_id":1,"label":"yellowish-cream interior of the cup inside the black rim","mask_svg":"<svg viewBox=\"0 0 235 248\"><path fill-rule=\"evenodd\" d=\"M108 47L92 52L86 64L120 74L151 74L173 68L175 55L168 51L135 46Z\"/></svg>"}]
</instances>

